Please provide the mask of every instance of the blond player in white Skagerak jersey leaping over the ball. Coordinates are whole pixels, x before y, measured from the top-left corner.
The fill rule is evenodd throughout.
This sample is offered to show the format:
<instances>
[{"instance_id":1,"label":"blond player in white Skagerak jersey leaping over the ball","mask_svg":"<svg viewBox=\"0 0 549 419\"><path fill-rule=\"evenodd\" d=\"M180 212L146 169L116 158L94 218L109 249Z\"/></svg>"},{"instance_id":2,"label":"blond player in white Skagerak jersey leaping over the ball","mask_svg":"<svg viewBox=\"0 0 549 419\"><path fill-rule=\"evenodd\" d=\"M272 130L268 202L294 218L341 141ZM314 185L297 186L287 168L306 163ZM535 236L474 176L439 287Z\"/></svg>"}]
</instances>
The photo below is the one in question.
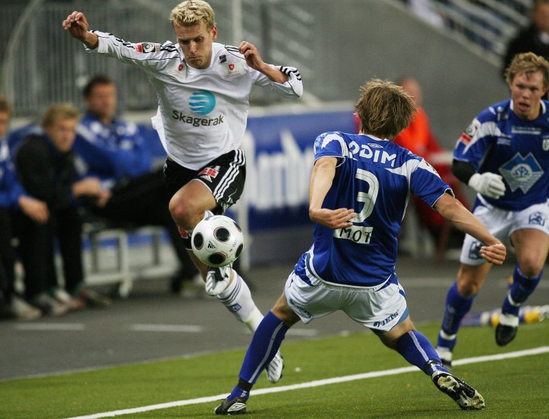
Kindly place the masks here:
<instances>
[{"instance_id":1,"label":"blond player in white Skagerak jersey leaping over the ball","mask_svg":"<svg viewBox=\"0 0 549 419\"><path fill-rule=\"evenodd\" d=\"M303 94L294 67L266 64L255 45L238 47L213 42L218 36L211 6L202 0L179 3L170 21L177 42L130 43L106 32L89 30L82 12L62 26L91 53L101 53L147 73L159 107L152 125L167 153L165 177L170 212L186 240L191 258L206 281L206 290L255 331L263 318L248 286L231 266L208 268L191 250L192 230L212 213L223 213L244 189L246 159L239 149L246 129L248 95L254 85L283 97ZM269 381L280 379L279 353L267 368Z\"/></svg>"}]
</instances>

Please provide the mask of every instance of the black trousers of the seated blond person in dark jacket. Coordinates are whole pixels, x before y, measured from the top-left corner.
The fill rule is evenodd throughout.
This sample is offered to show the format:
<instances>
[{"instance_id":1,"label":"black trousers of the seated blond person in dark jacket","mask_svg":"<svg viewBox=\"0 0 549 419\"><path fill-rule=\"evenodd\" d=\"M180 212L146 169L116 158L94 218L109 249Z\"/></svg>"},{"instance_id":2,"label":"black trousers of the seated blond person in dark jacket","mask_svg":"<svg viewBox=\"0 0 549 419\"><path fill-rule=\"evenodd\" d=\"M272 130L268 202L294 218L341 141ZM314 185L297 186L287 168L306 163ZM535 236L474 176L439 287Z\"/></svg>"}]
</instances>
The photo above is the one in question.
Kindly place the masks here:
<instances>
[{"instance_id":1,"label":"black trousers of the seated blond person in dark jacket","mask_svg":"<svg viewBox=\"0 0 549 419\"><path fill-rule=\"evenodd\" d=\"M18 250L25 270L27 298L58 286L56 242L62 259L65 289L72 293L82 286L82 221L77 208L50 213L45 224L38 224L23 213L16 213L14 230L19 237Z\"/></svg>"}]
</instances>

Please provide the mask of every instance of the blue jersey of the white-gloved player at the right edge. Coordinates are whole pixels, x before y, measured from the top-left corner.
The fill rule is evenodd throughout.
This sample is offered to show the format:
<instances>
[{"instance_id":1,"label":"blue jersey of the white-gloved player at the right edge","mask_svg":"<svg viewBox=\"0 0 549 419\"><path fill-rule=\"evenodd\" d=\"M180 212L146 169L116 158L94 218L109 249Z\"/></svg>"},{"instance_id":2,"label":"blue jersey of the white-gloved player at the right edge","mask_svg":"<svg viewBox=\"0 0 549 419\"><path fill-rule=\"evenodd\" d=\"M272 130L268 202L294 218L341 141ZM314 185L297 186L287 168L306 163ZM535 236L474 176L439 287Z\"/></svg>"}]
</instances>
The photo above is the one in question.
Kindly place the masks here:
<instances>
[{"instance_id":1,"label":"blue jersey of the white-gloved player at the right edge","mask_svg":"<svg viewBox=\"0 0 549 419\"><path fill-rule=\"evenodd\" d=\"M505 194L499 199L482 196L489 204L519 211L546 202L549 185L549 102L532 121L513 112L511 99L480 112L461 134L454 159L466 161L478 173L503 176Z\"/></svg>"}]
</instances>

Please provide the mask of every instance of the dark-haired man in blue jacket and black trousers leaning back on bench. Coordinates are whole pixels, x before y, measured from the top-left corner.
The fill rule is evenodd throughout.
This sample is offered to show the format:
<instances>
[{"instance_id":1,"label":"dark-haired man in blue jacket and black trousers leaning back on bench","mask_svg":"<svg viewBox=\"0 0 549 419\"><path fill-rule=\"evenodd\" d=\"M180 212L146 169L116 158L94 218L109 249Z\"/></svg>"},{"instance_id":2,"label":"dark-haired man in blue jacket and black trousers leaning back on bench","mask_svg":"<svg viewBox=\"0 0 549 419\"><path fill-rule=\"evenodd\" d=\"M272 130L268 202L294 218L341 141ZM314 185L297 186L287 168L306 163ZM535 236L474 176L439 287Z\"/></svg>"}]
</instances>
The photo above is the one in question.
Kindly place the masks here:
<instances>
[{"instance_id":1,"label":"dark-haired man in blue jacket and black trousers leaning back on bench","mask_svg":"<svg viewBox=\"0 0 549 419\"><path fill-rule=\"evenodd\" d=\"M83 95L86 113L78 125L74 143L80 163L77 167L80 176L100 178L102 187L111 193L105 206L97 206L92 200L85 208L114 226L164 227L179 261L178 272L170 278L170 289L179 293L184 283L193 287L194 280L200 281L202 288L198 270L168 210L163 162L153 166L149 144L160 143L156 131L151 131L156 138L145 139L135 123L115 116L117 88L106 75L91 77Z\"/></svg>"}]
</instances>

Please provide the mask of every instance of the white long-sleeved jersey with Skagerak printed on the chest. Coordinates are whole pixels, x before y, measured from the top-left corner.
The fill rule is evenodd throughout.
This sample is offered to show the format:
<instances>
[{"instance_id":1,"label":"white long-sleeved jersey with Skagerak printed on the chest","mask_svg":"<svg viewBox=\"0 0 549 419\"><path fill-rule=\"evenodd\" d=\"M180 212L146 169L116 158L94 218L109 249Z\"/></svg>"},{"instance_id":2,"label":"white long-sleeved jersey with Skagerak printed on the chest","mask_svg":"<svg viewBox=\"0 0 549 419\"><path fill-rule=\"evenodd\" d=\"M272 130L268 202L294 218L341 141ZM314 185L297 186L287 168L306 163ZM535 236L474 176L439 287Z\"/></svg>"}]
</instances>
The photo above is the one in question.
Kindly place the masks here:
<instances>
[{"instance_id":1,"label":"white long-sleeved jersey with Skagerak printed on the chest","mask_svg":"<svg viewBox=\"0 0 549 419\"><path fill-rule=\"evenodd\" d=\"M288 82L272 82L246 64L237 47L213 43L207 69L187 65L179 45L166 41L129 43L93 31L104 53L143 69L156 90L159 108L152 126L176 163L198 170L214 158L240 147L246 130L253 85L272 88L283 97L300 97L301 75L293 67L275 67Z\"/></svg>"}]
</instances>

